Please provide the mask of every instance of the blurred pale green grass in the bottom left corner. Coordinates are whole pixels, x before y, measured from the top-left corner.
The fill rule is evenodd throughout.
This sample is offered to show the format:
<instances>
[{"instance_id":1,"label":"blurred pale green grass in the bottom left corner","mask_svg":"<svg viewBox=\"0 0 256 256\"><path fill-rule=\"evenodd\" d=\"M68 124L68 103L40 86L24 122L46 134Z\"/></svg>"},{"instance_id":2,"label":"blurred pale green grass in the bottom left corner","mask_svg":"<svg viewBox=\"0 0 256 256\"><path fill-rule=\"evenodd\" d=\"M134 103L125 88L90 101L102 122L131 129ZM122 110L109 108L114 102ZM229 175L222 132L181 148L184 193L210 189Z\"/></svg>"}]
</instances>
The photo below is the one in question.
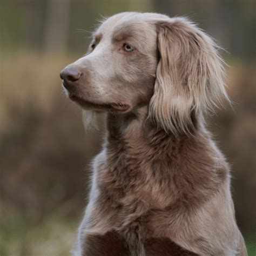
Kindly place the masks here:
<instances>
[{"instance_id":1,"label":"blurred pale green grass in the bottom left corner","mask_svg":"<svg viewBox=\"0 0 256 256\"><path fill-rule=\"evenodd\" d=\"M43 220L31 221L22 212L12 212L10 208L8 216L1 217L1 256L68 256L75 245L77 218L54 213Z\"/></svg>"}]
</instances>

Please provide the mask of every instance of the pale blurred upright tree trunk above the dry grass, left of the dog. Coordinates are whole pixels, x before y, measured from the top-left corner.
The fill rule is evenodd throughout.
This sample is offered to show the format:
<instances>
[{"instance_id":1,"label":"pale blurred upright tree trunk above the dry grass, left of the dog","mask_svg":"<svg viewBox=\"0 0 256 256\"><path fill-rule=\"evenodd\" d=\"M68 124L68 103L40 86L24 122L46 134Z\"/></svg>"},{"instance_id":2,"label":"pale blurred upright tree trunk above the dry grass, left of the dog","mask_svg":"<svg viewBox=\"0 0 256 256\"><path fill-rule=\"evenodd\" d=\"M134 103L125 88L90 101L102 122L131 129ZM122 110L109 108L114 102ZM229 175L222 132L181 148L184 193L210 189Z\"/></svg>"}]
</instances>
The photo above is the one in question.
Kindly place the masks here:
<instances>
[{"instance_id":1,"label":"pale blurred upright tree trunk above the dry grass, left of the dog","mask_svg":"<svg viewBox=\"0 0 256 256\"><path fill-rule=\"evenodd\" d=\"M49 0L46 6L44 47L64 52L68 47L70 0Z\"/></svg>"}]
</instances>

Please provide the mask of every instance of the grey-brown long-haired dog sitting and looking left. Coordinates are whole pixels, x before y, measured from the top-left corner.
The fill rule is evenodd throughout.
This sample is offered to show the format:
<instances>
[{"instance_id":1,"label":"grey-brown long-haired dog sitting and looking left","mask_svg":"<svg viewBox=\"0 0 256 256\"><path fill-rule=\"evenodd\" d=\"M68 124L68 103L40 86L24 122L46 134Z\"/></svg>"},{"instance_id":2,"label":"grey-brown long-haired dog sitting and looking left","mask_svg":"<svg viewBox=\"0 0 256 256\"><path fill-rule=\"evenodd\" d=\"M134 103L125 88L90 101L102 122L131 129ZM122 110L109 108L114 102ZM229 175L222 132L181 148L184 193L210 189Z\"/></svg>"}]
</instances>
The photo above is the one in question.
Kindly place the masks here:
<instances>
[{"instance_id":1,"label":"grey-brown long-haired dog sitting and looking left","mask_svg":"<svg viewBox=\"0 0 256 256\"><path fill-rule=\"evenodd\" d=\"M106 113L76 255L247 255L230 170L204 116L226 98L214 41L186 18L124 12L60 74Z\"/></svg>"}]
</instances>

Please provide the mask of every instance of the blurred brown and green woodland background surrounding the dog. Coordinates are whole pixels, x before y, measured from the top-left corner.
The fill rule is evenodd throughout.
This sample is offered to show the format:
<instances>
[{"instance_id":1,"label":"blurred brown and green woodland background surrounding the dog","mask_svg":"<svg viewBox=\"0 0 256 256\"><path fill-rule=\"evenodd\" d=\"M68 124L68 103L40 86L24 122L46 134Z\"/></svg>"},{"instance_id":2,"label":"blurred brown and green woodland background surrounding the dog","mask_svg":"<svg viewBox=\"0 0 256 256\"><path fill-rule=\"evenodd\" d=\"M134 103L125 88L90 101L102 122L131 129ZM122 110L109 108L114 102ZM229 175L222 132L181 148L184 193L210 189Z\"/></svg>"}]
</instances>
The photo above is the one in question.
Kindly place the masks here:
<instances>
[{"instance_id":1,"label":"blurred brown and green woodland background surrounding the dog","mask_svg":"<svg viewBox=\"0 0 256 256\"><path fill-rule=\"evenodd\" d=\"M256 1L1 0L0 255L70 255L102 131L85 132L59 72L84 55L102 16L188 16L227 50L230 106L209 120L232 166L238 225L256 255Z\"/></svg>"}]
</instances>

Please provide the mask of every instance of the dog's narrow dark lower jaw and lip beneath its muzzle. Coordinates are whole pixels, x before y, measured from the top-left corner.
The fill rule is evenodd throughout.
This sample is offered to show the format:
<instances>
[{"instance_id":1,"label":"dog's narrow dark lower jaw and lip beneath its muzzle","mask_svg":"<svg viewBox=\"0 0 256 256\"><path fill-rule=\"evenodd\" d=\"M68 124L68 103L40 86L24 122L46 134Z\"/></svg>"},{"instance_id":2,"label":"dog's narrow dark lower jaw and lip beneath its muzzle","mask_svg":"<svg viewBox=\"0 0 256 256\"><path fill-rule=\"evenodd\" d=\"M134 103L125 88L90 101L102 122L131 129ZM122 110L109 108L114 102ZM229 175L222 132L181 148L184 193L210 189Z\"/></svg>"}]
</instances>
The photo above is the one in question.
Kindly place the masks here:
<instances>
[{"instance_id":1,"label":"dog's narrow dark lower jaw and lip beneath its muzzle","mask_svg":"<svg viewBox=\"0 0 256 256\"><path fill-rule=\"evenodd\" d=\"M87 99L83 99L79 96L69 94L69 98L80 105L83 109L96 110L96 111L108 111L108 112L122 112L126 113L130 110L130 106L123 103L95 103Z\"/></svg>"}]
</instances>

